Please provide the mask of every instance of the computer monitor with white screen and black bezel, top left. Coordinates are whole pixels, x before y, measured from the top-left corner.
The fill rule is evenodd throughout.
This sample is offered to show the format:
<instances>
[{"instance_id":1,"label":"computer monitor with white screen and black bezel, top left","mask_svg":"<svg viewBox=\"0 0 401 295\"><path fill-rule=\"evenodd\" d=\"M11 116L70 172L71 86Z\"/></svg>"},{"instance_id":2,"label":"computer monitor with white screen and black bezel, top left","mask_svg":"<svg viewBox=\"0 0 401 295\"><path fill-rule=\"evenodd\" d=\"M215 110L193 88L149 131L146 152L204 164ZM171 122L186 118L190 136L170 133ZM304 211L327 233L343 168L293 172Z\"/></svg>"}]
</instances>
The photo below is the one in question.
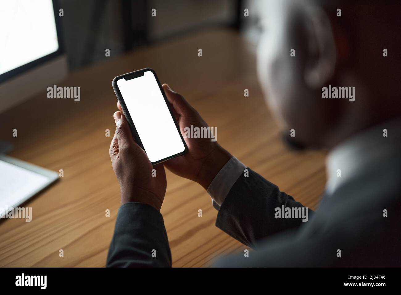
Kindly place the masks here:
<instances>
[{"instance_id":1,"label":"computer monitor with white screen and black bezel, top left","mask_svg":"<svg viewBox=\"0 0 401 295\"><path fill-rule=\"evenodd\" d=\"M63 80L57 0L0 0L0 113Z\"/></svg>"}]
</instances>

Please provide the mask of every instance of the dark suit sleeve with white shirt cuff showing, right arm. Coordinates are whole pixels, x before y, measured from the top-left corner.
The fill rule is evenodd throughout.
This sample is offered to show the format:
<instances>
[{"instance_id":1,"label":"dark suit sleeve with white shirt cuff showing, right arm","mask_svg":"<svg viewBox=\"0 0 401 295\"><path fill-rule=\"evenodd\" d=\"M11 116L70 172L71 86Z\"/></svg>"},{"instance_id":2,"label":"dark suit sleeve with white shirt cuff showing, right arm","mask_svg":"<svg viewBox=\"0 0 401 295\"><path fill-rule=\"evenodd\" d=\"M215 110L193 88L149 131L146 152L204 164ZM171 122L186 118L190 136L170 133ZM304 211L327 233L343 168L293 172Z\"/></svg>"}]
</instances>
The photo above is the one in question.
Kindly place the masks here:
<instances>
[{"instance_id":1,"label":"dark suit sleeve with white shirt cuff showing, right arm","mask_svg":"<svg viewBox=\"0 0 401 295\"><path fill-rule=\"evenodd\" d=\"M275 218L275 208L304 207L292 196L249 170L249 176L241 176L226 196L217 215L216 226L245 245L253 247L257 240L277 232L298 228L301 218ZM308 209L308 218L313 211Z\"/></svg>"}]
</instances>

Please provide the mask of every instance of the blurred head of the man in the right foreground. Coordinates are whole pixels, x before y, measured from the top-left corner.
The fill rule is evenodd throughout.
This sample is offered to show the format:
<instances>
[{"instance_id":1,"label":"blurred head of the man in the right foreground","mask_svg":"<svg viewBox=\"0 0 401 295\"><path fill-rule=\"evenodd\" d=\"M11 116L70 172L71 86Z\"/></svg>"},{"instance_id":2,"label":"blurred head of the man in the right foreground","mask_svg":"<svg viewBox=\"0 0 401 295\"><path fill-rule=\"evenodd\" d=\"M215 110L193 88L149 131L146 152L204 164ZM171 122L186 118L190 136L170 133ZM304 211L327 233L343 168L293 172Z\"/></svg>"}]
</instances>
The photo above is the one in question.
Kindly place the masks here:
<instances>
[{"instance_id":1,"label":"blurred head of the man in the right foreground","mask_svg":"<svg viewBox=\"0 0 401 295\"><path fill-rule=\"evenodd\" d=\"M331 148L401 116L399 6L332 2L261 2L259 81L284 134L296 131L286 138L298 146ZM350 87L355 99L325 97L325 87Z\"/></svg>"}]
</instances>

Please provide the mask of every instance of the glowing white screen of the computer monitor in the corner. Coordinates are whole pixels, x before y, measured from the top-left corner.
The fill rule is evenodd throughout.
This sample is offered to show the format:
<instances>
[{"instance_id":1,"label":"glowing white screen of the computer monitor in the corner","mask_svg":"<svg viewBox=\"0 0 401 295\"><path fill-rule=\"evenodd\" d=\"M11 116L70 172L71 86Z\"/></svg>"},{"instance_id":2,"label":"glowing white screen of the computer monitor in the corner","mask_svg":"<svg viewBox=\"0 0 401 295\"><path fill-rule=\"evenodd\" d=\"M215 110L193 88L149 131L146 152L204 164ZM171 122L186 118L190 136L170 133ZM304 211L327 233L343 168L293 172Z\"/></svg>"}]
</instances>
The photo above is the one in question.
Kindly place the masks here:
<instances>
[{"instance_id":1,"label":"glowing white screen of the computer monitor in the corner","mask_svg":"<svg viewBox=\"0 0 401 295\"><path fill-rule=\"evenodd\" d=\"M59 50L52 0L0 0L0 75Z\"/></svg>"}]
</instances>

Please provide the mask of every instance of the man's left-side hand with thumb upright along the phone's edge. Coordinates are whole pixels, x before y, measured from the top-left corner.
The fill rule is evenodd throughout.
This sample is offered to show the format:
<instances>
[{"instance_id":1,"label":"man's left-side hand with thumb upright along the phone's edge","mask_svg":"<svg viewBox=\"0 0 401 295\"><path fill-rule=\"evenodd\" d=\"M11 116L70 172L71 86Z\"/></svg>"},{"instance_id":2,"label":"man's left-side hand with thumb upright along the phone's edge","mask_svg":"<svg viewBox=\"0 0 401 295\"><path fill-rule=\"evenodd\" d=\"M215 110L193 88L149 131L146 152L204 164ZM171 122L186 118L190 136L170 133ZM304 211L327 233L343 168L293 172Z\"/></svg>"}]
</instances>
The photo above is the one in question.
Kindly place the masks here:
<instances>
[{"instance_id":1,"label":"man's left-side hand with thumb upright along the phone's edge","mask_svg":"<svg viewBox=\"0 0 401 295\"><path fill-rule=\"evenodd\" d=\"M158 211L166 194L166 174L162 164L152 166L148 156L135 142L123 113L113 115L115 134L110 144L111 164L120 184L121 204L141 202ZM152 177L152 169L156 177Z\"/></svg>"}]
</instances>

